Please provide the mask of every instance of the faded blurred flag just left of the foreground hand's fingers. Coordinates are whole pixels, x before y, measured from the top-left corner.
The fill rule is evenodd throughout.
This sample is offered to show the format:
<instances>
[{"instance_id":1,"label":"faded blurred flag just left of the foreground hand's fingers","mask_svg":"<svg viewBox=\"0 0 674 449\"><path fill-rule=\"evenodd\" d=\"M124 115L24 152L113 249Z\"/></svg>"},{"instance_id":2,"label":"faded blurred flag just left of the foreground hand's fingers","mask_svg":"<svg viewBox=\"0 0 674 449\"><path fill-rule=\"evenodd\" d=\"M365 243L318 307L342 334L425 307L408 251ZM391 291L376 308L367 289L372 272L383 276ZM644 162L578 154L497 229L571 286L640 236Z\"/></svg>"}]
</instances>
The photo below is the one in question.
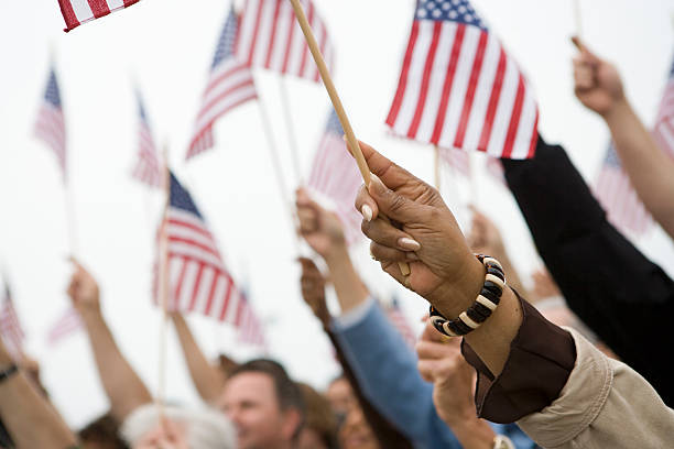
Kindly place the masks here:
<instances>
[{"instance_id":1,"label":"faded blurred flag just left of the foreground hand's fingers","mask_svg":"<svg viewBox=\"0 0 674 449\"><path fill-rule=\"evenodd\" d=\"M362 237L362 217L354 207L362 178L354 157L341 138L344 130L333 109L328 116L325 132L314 156L308 187L333 202L335 212L344 226L348 243Z\"/></svg>"}]
</instances>

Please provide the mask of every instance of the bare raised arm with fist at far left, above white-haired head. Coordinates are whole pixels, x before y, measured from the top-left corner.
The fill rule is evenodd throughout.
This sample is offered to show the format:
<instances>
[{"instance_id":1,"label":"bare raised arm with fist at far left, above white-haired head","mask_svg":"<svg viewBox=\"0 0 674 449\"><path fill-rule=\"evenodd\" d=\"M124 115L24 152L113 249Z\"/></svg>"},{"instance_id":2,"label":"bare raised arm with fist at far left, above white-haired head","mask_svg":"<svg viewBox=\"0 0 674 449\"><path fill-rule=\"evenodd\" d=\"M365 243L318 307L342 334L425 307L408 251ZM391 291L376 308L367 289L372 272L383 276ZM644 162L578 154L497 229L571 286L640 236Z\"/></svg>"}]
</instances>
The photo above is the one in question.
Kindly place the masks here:
<instances>
[{"instance_id":1,"label":"bare raised arm with fist at far left, above white-haired head","mask_svg":"<svg viewBox=\"0 0 674 449\"><path fill-rule=\"evenodd\" d=\"M152 396L115 342L100 310L98 284L79 263L74 264L68 295L87 329L110 414L121 423L135 408L152 402Z\"/></svg>"}]
</instances>

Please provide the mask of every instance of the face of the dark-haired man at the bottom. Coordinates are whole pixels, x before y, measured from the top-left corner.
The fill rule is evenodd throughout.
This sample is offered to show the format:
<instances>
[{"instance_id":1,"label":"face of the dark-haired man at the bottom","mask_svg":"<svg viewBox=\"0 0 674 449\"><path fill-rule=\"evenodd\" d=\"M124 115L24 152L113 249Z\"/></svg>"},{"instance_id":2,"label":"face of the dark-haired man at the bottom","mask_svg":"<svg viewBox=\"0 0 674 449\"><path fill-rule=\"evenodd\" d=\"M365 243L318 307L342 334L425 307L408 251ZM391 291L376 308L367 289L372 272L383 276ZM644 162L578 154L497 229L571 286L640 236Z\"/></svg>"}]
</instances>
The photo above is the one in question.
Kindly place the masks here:
<instances>
[{"instance_id":1,"label":"face of the dark-haired man at the bottom","mask_svg":"<svg viewBox=\"0 0 674 449\"><path fill-rule=\"evenodd\" d=\"M296 424L282 412L274 382L264 373L242 372L227 381L219 407L237 427L239 449L283 447L292 440Z\"/></svg>"}]
</instances>

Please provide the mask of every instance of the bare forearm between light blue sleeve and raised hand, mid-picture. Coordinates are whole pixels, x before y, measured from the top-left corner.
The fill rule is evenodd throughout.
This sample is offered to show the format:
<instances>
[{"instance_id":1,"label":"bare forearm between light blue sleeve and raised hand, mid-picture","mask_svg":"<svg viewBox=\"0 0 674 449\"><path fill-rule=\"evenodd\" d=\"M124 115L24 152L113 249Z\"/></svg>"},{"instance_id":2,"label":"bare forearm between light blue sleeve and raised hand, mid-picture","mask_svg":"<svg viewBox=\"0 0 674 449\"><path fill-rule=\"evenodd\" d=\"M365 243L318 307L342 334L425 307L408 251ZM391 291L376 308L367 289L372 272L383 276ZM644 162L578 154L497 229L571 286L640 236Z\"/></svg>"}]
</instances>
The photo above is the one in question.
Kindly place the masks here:
<instances>
[{"instance_id":1,"label":"bare forearm between light blue sleeve and raised hand, mid-picture","mask_svg":"<svg viewBox=\"0 0 674 449\"><path fill-rule=\"evenodd\" d=\"M341 313L362 304L370 295L349 258L346 247L340 245L325 256L335 286Z\"/></svg>"}]
</instances>

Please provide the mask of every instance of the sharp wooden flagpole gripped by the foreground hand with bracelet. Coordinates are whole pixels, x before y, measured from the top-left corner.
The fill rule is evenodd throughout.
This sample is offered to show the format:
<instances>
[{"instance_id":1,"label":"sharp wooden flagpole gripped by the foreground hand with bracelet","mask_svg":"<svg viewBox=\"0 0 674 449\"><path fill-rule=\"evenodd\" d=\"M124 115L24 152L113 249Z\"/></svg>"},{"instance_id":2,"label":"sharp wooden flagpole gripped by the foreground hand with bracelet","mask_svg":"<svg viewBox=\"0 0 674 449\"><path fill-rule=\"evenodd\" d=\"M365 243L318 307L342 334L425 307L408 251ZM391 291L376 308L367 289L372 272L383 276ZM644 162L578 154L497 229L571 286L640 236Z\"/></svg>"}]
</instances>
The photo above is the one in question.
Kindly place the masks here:
<instances>
[{"instance_id":1,"label":"sharp wooden flagpole gripped by the foreground hand with bracelet","mask_svg":"<svg viewBox=\"0 0 674 449\"><path fill-rule=\"evenodd\" d=\"M339 123L341 123L341 128L344 129L344 133L346 135L347 144L356 158L356 163L358 164L358 169L360 171L360 175L362 176L362 180L366 186L370 185L370 167L368 167L368 163L362 155L362 151L360 150L360 145L358 144L358 140L356 140L356 134L354 133L354 129L351 128L351 123L344 110L344 106L341 105L341 100L339 99L339 95L337 94L337 89L335 88L335 84L333 83L333 78L330 77L330 73L328 72L327 65L325 64L325 59L323 58L323 54L320 53L320 48L318 47L318 43L316 42L316 37L314 37L314 33L312 32L312 28L306 20L306 15L304 14L304 10L300 4L300 0L290 0L293 10L295 11L295 17L297 18L297 22L300 22L300 28L302 29L302 33L304 34L304 39L312 52L312 56L314 57L314 62L318 67L318 73L320 73L320 78L323 79L323 85L330 97L330 101L333 102L333 107L335 108L335 112L337 112L337 118L339 118ZM388 218L383 215L380 217L384 220ZM410 275L410 265L406 262L399 262L398 266L400 267L400 272L403 276Z\"/></svg>"}]
</instances>

